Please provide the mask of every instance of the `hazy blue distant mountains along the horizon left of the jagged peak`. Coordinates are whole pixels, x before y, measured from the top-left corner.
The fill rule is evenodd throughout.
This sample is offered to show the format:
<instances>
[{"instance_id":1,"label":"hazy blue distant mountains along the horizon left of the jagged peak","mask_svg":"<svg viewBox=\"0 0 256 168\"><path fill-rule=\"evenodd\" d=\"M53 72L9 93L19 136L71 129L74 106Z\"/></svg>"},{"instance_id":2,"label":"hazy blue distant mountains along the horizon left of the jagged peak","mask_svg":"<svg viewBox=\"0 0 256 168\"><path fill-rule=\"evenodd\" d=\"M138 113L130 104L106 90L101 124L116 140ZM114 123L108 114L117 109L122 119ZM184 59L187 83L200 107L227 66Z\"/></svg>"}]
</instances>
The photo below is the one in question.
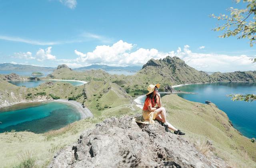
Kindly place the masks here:
<instances>
[{"instance_id":1,"label":"hazy blue distant mountains along the horizon left of the jagged peak","mask_svg":"<svg viewBox=\"0 0 256 168\"><path fill-rule=\"evenodd\" d=\"M0 71L53 71L56 67L38 67L33 65L20 65L12 63L0 63ZM75 71L86 71L91 69L102 69L105 71L131 71L136 72L140 66L112 67L108 65L90 65L86 67L74 68Z\"/></svg>"}]
</instances>

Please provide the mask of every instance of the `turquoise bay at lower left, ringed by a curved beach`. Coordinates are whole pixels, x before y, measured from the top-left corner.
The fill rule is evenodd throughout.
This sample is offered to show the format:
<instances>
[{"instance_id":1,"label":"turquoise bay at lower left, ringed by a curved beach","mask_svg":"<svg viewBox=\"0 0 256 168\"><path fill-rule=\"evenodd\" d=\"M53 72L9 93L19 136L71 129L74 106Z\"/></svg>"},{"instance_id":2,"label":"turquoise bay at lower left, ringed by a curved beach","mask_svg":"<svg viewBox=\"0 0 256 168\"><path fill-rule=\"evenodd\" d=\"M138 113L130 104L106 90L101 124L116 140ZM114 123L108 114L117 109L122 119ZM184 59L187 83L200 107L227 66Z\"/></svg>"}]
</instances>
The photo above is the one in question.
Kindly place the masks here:
<instances>
[{"instance_id":1,"label":"turquoise bay at lower left, ringed by a curved beach","mask_svg":"<svg viewBox=\"0 0 256 168\"><path fill-rule=\"evenodd\" d=\"M43 133L80 120L80 114L64 103L21 103L0 109L0 132L29 130Z\"/></svg>"}]
</instances>

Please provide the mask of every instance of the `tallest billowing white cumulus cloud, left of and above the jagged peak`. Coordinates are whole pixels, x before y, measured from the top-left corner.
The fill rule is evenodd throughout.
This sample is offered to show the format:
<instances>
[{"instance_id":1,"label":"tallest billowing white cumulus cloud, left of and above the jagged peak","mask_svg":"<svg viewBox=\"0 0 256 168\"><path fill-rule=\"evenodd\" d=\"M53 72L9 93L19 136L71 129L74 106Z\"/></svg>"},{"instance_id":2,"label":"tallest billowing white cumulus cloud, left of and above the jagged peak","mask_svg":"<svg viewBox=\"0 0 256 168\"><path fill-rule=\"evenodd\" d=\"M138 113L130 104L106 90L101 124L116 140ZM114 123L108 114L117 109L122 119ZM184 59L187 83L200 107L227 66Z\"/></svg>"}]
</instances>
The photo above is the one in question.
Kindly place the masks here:
<instances>
[{"instance_id":1,"label":"tallest billowing white cumulus cloud, left of and above the jagged peak","mask_svg":"<svg viewBox=\"0 0 256 168\"><path fill-rule=\"evenodd\" d=\"M133 44L120 40L112 46L98 45L92 52L82 53L75 50L74 53L79 56L77 62L108 65L142 65L151 58L160 59L166 55L154 48L140 48L132 52L133 48Z\"/></svg>"}]
</instances>

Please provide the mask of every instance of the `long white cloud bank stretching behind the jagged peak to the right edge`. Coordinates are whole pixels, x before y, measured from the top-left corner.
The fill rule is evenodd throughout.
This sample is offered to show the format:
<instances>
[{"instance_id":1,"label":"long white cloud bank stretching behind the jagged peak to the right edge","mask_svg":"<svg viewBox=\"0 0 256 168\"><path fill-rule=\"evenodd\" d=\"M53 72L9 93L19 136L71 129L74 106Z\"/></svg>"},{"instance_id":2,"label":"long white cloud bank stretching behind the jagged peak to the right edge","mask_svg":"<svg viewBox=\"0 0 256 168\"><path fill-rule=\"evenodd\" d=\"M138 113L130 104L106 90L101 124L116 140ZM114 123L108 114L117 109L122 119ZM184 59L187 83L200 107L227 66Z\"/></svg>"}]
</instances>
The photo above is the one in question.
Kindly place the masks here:
<instances>
[{"instance_id":1,"label":"long white cloud bank stretching behind the jagged peak to the right edge","mask_svg":"<svg viewBox=\"0 0 256 168\"><path fill-rule=\"evenodd\" d=\"M83 53L74 50L78 56L76 59L63 59L63 63L71 66L87 66L91 64L104 64L110 66L142 66L149 59L163 59L166 56L177 56L183 59L189 66L202 71L248 71L255 70L250 57L246 55L230 56L216 53L194 53L189 45L183 49L178 47L176 51L161 52L157 49L135 49L135 45L122 40L113 45L98 45L94 51ZM76 63L76 64L72 64Z\"/></svg>"}]
</instances>

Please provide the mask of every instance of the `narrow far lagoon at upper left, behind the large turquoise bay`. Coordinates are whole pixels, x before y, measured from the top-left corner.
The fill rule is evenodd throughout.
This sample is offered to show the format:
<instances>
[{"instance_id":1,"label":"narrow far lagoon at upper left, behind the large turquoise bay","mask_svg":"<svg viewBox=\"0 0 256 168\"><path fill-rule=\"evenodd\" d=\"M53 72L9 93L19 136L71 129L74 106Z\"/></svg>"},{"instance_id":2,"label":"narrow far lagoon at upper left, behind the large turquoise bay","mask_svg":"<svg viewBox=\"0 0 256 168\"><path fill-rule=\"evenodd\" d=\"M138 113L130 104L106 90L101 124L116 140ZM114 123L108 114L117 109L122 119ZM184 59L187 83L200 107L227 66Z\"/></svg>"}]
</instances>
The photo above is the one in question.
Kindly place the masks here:
<instances>
[{"instance_id":1,"label":"narrow far lagoon at upper left, behind the large turquoise bay","mask_svg":"<svg viewBox=\"0 0 256 168\"><path fill-rule=\"evenodd\" d=\"M50 81L50 80L47 80ZM25 87L38 87L40 84L47 82L44 80L29 80L29 81L8 81L9 83L12 83L13 85L16 86L25 86ZM70 83L74 86L79 86L84 83L79 82L79 81L51 81L51 82L65 82L65 83Z\"/></svg>"}]
</instances>

